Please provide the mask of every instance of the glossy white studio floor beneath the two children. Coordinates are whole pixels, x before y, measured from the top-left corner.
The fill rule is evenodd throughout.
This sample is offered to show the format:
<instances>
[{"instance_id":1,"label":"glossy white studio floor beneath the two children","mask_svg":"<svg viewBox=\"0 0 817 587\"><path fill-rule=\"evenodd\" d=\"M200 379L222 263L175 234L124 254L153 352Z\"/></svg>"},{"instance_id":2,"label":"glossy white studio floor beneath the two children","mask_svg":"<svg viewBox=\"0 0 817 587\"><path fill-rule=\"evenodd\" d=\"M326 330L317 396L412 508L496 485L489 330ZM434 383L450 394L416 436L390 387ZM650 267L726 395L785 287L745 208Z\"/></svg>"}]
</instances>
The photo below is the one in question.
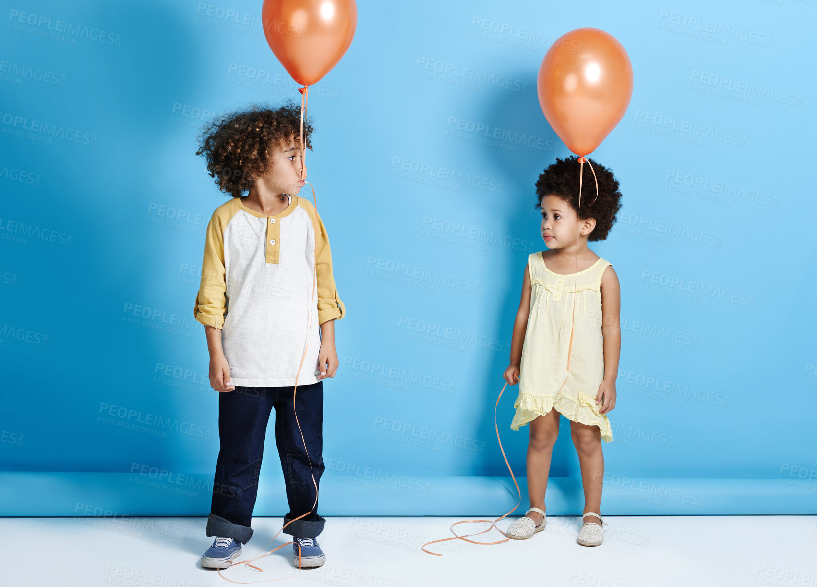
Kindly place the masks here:
<instances>
[{"instance_id":1,"label":"glossy white studio floor beneath the two children","mask_svg":"<svg viewBox=\"0 0 817 587\"><path fill-rule=\"evenodd\" d=\"M498 522L507 530L512 519ZM425 587L566 585L577 587L817 587L817 516L605 518L605 542L580 546L578 517L548 516L529 540L478 545L450 536L453 522L480 518L327 518L319 544L327 562L298 571L292 544L253 564L222 571L199 566L212 544L207 518L0 518L7 567L4 587L195 587L267 581L278 585ZM240 559L289 540L281 518L254 518ZM487 524L460 524L460 534ZM502 540L491 530L474 540ZM435 547L437 547L435 549ZM285 556L282 556L285 553ZM270 581L292 576L283 583Z\"/></svg>"}]
</instances>

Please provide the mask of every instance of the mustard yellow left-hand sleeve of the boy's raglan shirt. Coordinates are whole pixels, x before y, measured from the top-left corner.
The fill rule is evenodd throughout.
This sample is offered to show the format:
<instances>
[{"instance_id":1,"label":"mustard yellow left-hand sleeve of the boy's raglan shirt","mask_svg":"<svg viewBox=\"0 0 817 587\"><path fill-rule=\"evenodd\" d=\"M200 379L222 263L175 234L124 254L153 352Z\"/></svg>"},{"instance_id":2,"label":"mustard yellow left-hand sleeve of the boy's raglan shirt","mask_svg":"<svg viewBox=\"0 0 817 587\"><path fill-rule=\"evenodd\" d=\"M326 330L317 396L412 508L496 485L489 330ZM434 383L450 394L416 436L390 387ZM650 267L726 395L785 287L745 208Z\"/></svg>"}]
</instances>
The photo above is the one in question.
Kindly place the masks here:
<instances>
[{"instance_id":1,"label":"mustard yellow left-hand sleeve of the boy's raglan shirt","mask_svg":"<svg viewBox=\"0 0 817 587\"><path fill-rule=\"evenodd\" d=\"M204 236L202 280L193 315L205 326L224 328L227 284L224 266L223 213L217 209L210 218Z\"/></svg>"}]
</instances>

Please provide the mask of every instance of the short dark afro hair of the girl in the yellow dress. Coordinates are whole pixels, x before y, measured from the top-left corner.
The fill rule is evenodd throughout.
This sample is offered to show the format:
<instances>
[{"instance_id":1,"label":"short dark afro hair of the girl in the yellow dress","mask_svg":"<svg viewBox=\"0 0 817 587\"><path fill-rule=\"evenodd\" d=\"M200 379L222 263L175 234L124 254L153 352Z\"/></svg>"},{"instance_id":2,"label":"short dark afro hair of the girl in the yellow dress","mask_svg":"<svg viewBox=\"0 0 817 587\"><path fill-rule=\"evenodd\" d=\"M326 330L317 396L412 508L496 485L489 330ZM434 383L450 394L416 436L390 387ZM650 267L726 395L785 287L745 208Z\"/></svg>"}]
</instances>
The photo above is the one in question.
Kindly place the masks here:
<instances>
[{"instance_id":1,"label":"short dark afro hair of the girl in the yellow dress","mask_svg":"<svg viewBox=\"0 0 817 587\"><path fill-rule=\"evenodd\" d=\"M592 164L596 181L599 182L597 198L596 181L593 181L590 168L586 168L582 179L582 209L578 209L578 173L581 164L573 155L565 159L557 157L556 163L548 165L536 181L538 202L534 208L542 208L545 196L556 195L574 209L580 220L596 219L596 227L587 236L587 240L605 240L613 228L618 210L621 209L621 192L618 191L618 180L609 168L596 162L596 159L586 159Z\"/></svg>"}]
</instances>

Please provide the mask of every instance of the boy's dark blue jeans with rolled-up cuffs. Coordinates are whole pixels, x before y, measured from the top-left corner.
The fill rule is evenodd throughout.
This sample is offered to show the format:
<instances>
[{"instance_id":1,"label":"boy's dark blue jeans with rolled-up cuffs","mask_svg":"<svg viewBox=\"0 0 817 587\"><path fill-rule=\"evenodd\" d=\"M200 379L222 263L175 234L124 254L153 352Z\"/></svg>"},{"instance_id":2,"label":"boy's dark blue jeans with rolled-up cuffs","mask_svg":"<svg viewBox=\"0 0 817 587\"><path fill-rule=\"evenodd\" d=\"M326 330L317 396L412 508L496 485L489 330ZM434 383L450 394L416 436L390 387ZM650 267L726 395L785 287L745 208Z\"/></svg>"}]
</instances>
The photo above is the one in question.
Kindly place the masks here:
<instances>
[{"instance_id":1,"label":"boy's dark blue jeans with rolled-up cuffs","mask_svg":"<svg viewBox=\"0 0 817 587\"><path fill-rule=\"evenodd\" d=\"M221 450L212 485L208 536L227 536L242 544L250 540L266 425L274 407L275 445L278 446L289 505L283 523L309 512L283 528L283 533L298 538L315 538L324 530L326 520L318 515L315 484L312 482L314 475L315 483L320 486L320 477L324 473L324 382L298 385L297 388L297 421L301 423L308 457L292 408L293 387L237 385L233 391L219 394ZM314 503L315 509L312 508Z\"/></svg>"}]
</instances>

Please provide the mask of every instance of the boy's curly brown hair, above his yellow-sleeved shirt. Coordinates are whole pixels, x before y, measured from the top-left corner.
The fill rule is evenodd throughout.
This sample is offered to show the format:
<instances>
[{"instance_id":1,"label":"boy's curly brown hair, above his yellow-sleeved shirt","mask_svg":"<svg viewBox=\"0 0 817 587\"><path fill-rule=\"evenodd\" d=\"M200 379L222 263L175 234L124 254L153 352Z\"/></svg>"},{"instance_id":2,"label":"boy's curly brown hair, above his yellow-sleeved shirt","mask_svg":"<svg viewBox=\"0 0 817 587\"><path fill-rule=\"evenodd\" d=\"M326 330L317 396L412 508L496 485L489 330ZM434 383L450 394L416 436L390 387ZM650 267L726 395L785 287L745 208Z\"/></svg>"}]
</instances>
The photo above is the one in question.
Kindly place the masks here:
<instances>
[{"instance_id":1,"label":"boy's curly brown hair, above his yellow-sleeved shirt","mask_svg":"<svg viewBox=\"0 0 817 587\"><path fill-rule=\"evenodd\" d=\"M304 119L304 141L312 150L310 135L315 128L311 117ZM213 118L199 136L210 177L218 189L234 198L252 187L252 175L261 177L270 171L272 155L290 139L301 146L301 105L284 101L278 108L250 105Z\"/></svg>"}]
</instances>

